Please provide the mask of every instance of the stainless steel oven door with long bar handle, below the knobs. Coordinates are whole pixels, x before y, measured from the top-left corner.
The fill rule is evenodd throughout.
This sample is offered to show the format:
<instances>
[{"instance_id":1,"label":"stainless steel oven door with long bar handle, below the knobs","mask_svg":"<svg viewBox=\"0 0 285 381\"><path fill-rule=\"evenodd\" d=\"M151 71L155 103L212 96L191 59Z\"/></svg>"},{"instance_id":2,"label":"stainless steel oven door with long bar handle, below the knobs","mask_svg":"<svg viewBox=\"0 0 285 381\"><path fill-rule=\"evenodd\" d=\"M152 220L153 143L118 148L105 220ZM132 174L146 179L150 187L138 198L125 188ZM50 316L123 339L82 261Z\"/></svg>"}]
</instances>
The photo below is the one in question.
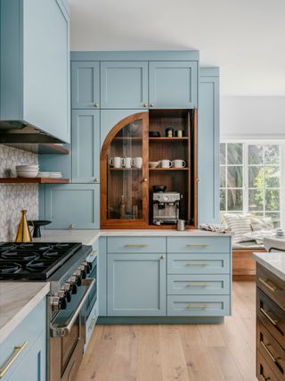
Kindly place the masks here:
<instances>
[{"instance_id":1,"label":"stainless steel oven door with long bar handle, below the knobs","mask_svg":"<svg viewBox=\"0 0 285 381\"><path fill-rule=\"evenodd\" d=\"M85 344L85 302L94 283L94 279L85 279L66 310L59 311L51 323L51 381L72 381L76 377Z\"/></svg>"}]
</instances>

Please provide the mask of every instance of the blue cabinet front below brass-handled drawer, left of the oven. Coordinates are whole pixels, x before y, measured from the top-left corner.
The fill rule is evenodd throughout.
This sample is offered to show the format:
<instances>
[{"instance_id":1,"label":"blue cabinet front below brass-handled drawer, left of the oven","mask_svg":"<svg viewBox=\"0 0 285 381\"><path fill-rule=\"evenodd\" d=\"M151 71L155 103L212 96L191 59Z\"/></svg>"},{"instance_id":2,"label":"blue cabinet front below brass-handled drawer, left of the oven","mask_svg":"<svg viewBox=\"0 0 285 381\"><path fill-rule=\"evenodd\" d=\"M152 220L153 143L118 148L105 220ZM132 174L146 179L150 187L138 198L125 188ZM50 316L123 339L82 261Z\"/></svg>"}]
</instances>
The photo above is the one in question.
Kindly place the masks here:
<instances>
[{"instance_id":1,"label":"blue cabinet front below brass-handled drawer, left of the oven","mask_svg":"<svg viewBox=\"0 0 285 381\"><path fill-rule=\"evenodd\" d=\"M27 356L15 369L9 381L45 381L46 380L46 333L39 336ZM5 379L5 377L4 377Z\"/></svg>"}]
</instances>

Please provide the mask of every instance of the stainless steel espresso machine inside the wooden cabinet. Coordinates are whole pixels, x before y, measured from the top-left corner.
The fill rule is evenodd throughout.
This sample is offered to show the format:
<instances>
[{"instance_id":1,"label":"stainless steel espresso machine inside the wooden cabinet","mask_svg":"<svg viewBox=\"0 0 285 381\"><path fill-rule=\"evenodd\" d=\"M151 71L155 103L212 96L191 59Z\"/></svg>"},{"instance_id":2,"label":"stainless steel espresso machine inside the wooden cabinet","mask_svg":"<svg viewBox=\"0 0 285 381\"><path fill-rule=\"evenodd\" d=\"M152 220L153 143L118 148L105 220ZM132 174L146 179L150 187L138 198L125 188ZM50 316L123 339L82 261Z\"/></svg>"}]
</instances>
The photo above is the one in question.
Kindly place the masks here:
<instances>
[{"instance_id":1,"label":"stainless steel espresso machine inside the wooden cabinet","mask_svg":"<svg viewBox=\"0 0 285 381\"><path fill-rule=\"evenodd\" d=\"M179 219L179 203L182 195L178 192L165 192L166 186L154 186L152 193L152 223L171 225Z\"/></svg>"}]
</instances>

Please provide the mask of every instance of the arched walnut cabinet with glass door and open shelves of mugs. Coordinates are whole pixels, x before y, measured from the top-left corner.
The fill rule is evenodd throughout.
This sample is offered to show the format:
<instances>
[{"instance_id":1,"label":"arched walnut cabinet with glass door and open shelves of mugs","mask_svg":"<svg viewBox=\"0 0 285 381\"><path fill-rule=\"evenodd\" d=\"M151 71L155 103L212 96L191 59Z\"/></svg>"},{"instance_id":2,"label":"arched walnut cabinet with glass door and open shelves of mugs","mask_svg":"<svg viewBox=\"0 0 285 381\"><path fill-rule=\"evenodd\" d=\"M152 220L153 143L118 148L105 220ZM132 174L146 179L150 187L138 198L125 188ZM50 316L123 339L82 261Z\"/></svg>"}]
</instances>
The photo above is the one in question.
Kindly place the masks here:
<instances>
[{"instance_id":1,"label":"arched walnut cabinet with glass door and open shelves of mugs","mask_svg":"<svg viewBox=\"0 0 285 381\"><path fill-rule=\"evenodd\" d=\"M183 137L166 137L167 128L182 130ZM149 168L149 162L177 159L185 167ZM197 109L151 110L120 120L102 145L100 170L101 228L174 228L152 223L158 185L182 195L179 218L197 228Z\"/></svg>"}]
</instances>

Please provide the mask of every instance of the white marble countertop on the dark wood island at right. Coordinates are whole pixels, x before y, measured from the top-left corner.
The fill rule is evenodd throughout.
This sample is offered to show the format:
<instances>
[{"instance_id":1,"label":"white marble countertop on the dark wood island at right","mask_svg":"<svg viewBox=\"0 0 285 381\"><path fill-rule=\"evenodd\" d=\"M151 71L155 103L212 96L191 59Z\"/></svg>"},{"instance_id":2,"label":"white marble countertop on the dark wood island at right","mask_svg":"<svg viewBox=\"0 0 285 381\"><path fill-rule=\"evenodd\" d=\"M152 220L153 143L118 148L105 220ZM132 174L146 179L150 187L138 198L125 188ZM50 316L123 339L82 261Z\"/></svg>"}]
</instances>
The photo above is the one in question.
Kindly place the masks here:
<instances>
[{"instance_id":1,"label":"white marble countertop on the dark wood island at right","mask_svg":"<svg viewBox=\"0 0 285 381\"><path fill-rule=\"evenodd\" d=\"M285 281L285 253L253 253L253 258Z\"/></svg>"}]
</instances>

